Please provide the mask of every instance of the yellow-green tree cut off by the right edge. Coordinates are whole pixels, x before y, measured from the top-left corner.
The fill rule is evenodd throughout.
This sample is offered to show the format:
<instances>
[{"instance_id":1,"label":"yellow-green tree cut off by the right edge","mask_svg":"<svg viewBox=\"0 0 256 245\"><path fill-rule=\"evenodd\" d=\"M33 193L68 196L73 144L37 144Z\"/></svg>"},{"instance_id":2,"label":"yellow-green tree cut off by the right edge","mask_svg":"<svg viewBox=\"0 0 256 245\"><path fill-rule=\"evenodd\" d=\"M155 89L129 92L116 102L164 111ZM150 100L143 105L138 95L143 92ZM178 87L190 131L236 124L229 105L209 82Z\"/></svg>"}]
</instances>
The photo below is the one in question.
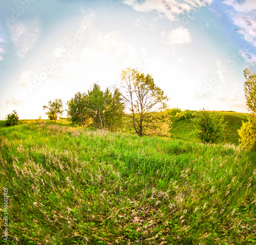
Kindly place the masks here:
<instances>
[{"instance_id":1,"label":"yellow-green tree cut off by the right edge","mask_svg":"<svg viewBox=\"0 0 256 245\"><path fill-rule=\"evenodd\" d=\"M256 73L251 73L249 69L244 70L245 83L244 92L246 106L250 114L248 122L243 122L242 127L238 130L239 141L241 146L256 151Z\"/></svg>"}]
</instances>

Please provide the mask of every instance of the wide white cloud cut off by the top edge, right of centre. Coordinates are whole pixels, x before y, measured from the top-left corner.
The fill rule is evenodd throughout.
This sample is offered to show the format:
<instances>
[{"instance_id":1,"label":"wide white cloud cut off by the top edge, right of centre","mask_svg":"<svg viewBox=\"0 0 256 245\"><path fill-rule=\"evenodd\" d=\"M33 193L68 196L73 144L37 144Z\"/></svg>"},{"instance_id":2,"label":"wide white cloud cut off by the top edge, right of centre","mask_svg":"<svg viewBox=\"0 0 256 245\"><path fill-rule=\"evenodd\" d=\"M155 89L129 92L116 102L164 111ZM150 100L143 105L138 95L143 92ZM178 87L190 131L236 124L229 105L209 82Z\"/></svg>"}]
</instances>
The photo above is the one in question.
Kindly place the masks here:
<instances>
[{"instance_id":1,"label":"wide white cloud cut off by the top edge, right of centre","mask_svg":"<svg viewBox=\"0 0 256 245\"><path fill-rule=\"evenodd\" d=\"M132 6L137 12L151 12L156 11L158 15L163 15L170 21L177 20L177 16L182 13L187 13L196 7L203 7L211 4L212 0L123 0L124 4Z\"/></svg>"}]
</instances>

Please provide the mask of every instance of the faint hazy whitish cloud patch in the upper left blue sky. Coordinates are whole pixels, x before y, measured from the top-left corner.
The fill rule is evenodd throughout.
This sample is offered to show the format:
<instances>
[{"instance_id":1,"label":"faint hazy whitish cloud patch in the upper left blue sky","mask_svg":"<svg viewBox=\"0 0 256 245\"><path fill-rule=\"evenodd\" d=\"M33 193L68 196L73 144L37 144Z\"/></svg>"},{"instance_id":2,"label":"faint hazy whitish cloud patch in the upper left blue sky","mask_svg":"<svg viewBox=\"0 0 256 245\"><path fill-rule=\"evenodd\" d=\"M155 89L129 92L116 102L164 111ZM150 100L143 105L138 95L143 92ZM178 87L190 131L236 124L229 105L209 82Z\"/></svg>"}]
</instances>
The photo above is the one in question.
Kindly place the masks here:
<instances>
[{"instance_id":1,"label":"faint hazy whitish cloud patch in the upper left blue sky","mask_svg":"<svg viewBox=\"0 0 256 245\"><path fill-rule=\"evenodd\" d=\"M39 38L38 21L23 21L9 25L11 39L17 49L17 56L25 58Z\"/></svg>"}]
</instances>

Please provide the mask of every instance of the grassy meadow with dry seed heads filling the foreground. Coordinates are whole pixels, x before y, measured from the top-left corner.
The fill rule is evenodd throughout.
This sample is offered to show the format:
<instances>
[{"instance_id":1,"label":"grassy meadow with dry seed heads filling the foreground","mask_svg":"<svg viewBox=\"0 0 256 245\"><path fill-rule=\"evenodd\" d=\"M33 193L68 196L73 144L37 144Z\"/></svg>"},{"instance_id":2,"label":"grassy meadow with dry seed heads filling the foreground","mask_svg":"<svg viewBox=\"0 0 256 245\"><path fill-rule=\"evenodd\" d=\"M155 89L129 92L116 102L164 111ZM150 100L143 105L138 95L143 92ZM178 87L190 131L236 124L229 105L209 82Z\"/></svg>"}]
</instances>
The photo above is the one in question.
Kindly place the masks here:
<instances>
[{"instance_id":1,"label":"grassy meadow with dry seed heads filling the foreground","mask_svg":"<svg viewBox=\"0 0 256 245\"><path fill-rule=\"evenodd\" d=\"M233 145L37 122L0 128L0 176L9 244L256 242L256 157Z\"/></svg>"}]
</instances>

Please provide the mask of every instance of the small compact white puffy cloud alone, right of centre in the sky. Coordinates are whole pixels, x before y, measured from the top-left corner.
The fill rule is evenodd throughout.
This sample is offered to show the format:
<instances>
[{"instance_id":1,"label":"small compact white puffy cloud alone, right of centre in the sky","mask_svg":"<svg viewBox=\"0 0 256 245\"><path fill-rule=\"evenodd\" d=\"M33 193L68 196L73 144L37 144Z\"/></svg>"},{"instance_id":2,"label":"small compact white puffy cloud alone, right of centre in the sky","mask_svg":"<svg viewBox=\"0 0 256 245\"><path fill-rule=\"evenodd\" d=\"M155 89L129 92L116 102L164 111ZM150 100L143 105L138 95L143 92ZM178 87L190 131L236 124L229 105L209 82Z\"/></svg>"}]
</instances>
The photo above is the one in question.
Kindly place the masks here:
<instances>
[{"instance_id":1,"label":"small compact white puffy cloud alone, right of centre in the sky","mask_svg":"<svg viewBox=\"0 0 256 245\"><path fill-rule=\"evenodd\" d=\"M162 41L170 45L183 44L191 41L191 35L186 28L179 27L169 32L161 32Z\"/></svg>"}]
</instances>

